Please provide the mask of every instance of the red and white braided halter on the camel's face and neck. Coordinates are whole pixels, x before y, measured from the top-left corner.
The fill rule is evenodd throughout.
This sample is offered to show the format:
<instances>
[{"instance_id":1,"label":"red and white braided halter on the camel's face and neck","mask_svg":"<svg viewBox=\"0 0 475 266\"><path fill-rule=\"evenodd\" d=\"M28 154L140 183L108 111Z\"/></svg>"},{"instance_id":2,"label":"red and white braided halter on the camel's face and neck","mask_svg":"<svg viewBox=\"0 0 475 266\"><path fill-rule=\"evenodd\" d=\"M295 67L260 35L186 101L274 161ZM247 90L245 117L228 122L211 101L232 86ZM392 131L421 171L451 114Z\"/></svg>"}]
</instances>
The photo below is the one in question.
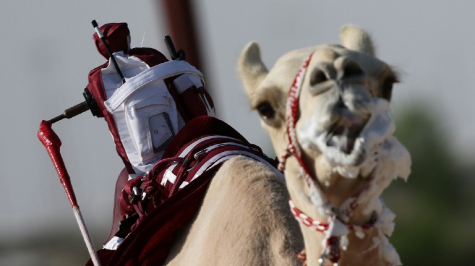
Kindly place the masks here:
<instances>
[{"instance_id":1,"label":"red and white braided halter on the camel's face and neck","mask_svg":"<svg viewBox=\"0 0 475 266\"><path fill-rule=\"evenodd\" d=\"M303 78L305 76L306 69L308 68L308 64L312 58L312 55L313 53L311 53L303 62L303 65L300 67L297 74L295 75L292 86L290 87L290 90L288 92L287 103L285 106L285 124L287 128L287 136L288 136L289 144L287 148L285 149L284 153L279 158L279 164L278 164L277 169L283 172L285 168L286 159L290 156L293 156L295 157L295 159L297 160L300 166L302 178L305 180L308 187L310 188L314 187L315 189L321 191L319 184L316 182L316 178L310 174L310 171L308 170L308 167L305 164L305 161L302 157L300 146L298 145L298 142L297 142L297 135L296 135L296 130L295 130L295 125L297 122L298 101L299 101L299 96L300 96L300 90L303 84ZM349 217L351 216L354 209L358 205L357 201L358 201L359 195L361 194L361 192L363 192L366 189L367 189L367 186L365 186L365 188L363 188L361 191L359 191L358 193L356 193L355 195L347 199L341 205L339 209L336 207L331 207L330 210L331 210L332 215L329 219L329 222L318 222L308 217L301 210L295 207L291 199L289 199L290 210L297 221L307 226L308 228L316 232L323 233L323 234L325 234L328 231L331 224L334 223L336 219L339 220L342 224L344 224L348 228L348 230L360 231L363 229L368 229L372 227L373 225L354 226L354 225L348 224ZM320 193L320 195L323 196L322 193ZM326 237L325 243L326 243L325 248L320 256L320 259L318 260L319 264L323 265L323 258L326 258L329 261L331 261L333 265L337 265L340 259L339 237L331 236L330 234L329 236ZM304 266L306 265L305 249L301 253L298 254L297 258L300 260L300 262L302 262Z\"/></svg>"}]
</instances>

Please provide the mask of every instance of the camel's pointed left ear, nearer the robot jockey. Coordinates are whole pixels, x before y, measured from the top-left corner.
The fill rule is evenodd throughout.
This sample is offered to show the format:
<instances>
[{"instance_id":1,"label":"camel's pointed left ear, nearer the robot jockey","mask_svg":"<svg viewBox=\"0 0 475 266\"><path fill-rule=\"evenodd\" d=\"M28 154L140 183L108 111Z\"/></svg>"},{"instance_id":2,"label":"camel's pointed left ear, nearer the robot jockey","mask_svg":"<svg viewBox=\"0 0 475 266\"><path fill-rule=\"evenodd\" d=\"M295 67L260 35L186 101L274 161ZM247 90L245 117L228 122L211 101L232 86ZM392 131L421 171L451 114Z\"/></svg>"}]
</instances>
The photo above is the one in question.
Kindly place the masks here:
<instances>
[{"instance_id":1,"label":"camel's pointed left ear, nearer the robot jockey","mask_svg":"<svg viewBox=\"0 0 475 266\"><path fill-rule=\"evenodd\" d=\"M268 73L260 58L260 48L256 42L249 42L242 49L237 62L237 72L244 84L247 96L252 97L255 89Z\"/></svg>"}]
</instances>

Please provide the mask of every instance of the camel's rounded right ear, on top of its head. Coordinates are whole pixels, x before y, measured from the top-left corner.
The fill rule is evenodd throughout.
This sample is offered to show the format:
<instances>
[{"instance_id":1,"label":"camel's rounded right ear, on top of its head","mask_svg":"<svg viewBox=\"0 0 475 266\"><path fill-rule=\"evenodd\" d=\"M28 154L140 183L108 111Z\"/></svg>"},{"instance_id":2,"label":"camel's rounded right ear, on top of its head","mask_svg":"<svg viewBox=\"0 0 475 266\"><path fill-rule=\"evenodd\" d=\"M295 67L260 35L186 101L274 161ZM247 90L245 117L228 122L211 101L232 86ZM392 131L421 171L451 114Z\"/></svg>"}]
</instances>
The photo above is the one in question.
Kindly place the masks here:
<instances>
[{"instance_id":1,"label":"camel's rounded right ear, on top of its head","mask_svg":"<svg viewBox=\"0 0 475 266\"><path fill-rule=\"evenodd\" d=\"M340 29L341 44L350 49L374 56L374 46L369 34L354 25L344 25Z\"/></svg>"}]
</instances>

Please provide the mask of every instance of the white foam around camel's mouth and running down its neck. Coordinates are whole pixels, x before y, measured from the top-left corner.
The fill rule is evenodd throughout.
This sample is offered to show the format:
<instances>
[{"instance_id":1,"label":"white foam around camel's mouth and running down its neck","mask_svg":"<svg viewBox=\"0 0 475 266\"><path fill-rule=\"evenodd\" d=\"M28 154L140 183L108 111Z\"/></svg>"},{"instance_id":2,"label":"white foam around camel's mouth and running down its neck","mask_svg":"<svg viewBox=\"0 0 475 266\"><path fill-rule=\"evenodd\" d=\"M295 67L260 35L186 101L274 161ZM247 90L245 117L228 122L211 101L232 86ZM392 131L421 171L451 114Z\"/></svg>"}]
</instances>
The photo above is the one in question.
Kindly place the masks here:
<instances>
[{"instance_id":1,"label":"white foam around camel's mouth and running down its neck","mask_svg":"<svg viewBox=\"0 0 475 266\"><path fill-rule=\"evenodd\" d=\"M381 98L373 99L370 118L354 140L352 150L349 152L348 146L345 147L348 140L338 139L342 136L331 136L335 139L330 139L329 142L327 131L315 122L309 121L305 126L297 128L297 134L302 148L311 150L314 155L322 154L332 171L340 176L346 178L371 176L368 188L360 194L357 201L358 205L364 206L362 214L369 215L372 212L377 214L374 225L378 234L372 239L373 245L369 250L379 246L379 255L384 261L390 265L402 265L399 255L388 241L394 230L395 215L384 205L380 196L392 180L397 177L407 179L411 160L406 148L392 135L395 126L388 108L388 101ZM317 192L310 194L320 195ZM324 201L322 199L312 201L314 205L315 202ZM325 206L318 204L315 206L321 209L320 213L324 213ZM362 232L356 236L365 237ZM345 250L348 245L346 235L342 236L342 243L346 243L342 247Z\"/></svg>"}]
</instances>

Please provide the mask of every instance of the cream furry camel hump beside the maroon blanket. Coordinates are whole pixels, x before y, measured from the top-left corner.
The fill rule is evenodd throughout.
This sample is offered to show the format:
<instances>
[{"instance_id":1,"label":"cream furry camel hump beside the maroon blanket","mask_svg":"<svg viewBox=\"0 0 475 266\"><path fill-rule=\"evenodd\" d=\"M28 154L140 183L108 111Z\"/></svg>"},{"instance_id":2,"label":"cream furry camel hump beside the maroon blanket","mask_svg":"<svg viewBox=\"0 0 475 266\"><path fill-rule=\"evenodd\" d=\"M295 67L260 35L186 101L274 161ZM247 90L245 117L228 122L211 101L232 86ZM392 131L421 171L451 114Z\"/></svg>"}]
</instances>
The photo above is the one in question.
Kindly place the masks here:
<instances>
[{"instance_id":1,"label":"cream furry camel hump beside the maroon blanket","mask_svg":"<svg viewBox=\"0 0 475 266\"><path fill-rule=\"evenodd\" d=\"M303 247L281 175L236 157L213 177L190 226L178 235L169 266L292 266Z\"/></svg>"}]
</instances>

